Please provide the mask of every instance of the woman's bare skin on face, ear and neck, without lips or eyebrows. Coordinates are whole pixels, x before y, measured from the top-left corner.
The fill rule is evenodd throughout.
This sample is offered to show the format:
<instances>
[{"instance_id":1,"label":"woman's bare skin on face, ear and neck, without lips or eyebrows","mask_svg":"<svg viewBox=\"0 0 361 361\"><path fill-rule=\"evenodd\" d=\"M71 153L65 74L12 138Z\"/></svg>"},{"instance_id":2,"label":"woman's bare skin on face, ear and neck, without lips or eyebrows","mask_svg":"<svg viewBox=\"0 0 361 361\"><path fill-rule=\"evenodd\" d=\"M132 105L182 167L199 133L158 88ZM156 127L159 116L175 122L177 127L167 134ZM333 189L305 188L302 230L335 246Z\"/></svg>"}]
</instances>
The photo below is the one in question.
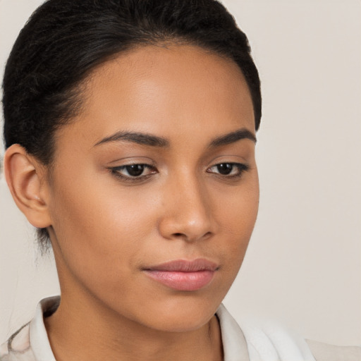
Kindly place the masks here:
<instances>
[{"instance_id":1,"label":"woman's bare skin on face, ear and neck, without lips or eyebrows","mask_svg":"<svg viewBox=\"0 0 361 361\"><path fill-rule=\"evenodd\" d=\"M214 313L242 264L259 200L255 142L209 146L237 130L255 134L240 69L188 45L140 47L97 68L84 99L56 134L51 170L20 145L5 157L18 207L51 235L61 305L45 324L56 360L222 360ZM117 132L168 145L102 142ZM127 164L150 168L134 181L114 169ZM225 176L217 164L247 170L233 165ZM200 290L145 274L196 258L218 265Z\"/></svg>"}]
</instances>

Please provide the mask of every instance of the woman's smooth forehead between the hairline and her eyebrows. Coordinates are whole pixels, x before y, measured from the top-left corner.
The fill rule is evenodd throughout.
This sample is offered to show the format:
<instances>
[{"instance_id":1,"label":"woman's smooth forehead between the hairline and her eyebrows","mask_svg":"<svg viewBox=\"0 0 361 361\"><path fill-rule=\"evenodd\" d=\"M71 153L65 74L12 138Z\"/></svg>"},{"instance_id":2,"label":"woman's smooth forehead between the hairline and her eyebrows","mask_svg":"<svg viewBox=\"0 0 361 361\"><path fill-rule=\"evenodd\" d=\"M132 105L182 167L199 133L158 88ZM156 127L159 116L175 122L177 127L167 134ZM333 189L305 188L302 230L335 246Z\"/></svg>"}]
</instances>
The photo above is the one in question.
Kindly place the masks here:
<instances>
[{"instance_id":1,"label":"woman's smooth forehead between the hairline and her eyebrows","mask_svg":"<svg viewBox=\"0 0 361 361\"><path fill-rule=\"evenodd\" d=\"M206 127L214 137L240 127L254 132L254 123L250 92L235 62L171 45L133 49L94 70L73 126L96 143L117 130L179 137Z\"/></svg>"}]
</instances>

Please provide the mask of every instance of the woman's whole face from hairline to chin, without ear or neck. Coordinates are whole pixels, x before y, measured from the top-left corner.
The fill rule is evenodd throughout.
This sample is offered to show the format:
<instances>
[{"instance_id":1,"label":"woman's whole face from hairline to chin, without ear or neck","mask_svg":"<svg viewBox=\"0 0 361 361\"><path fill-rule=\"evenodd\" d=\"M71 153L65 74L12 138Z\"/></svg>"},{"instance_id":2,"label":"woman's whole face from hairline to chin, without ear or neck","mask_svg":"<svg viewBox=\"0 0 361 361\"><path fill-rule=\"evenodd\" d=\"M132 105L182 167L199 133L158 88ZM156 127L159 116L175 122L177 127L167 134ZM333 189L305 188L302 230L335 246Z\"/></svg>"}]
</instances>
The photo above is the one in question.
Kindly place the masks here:
<instances>
[{"instance_id":1,"label":"woman's whole face from hairline to chin, without ear or neck","mask_svg":"<svg viewBox=\"0 0 361 361\"><path fill-rule=\"evenodd\" d=\"M48 185L63 302L159 330L207 323L255 224L254 136L232 61L149 46L97 68Z\"/></svg>"}]
</instances>

